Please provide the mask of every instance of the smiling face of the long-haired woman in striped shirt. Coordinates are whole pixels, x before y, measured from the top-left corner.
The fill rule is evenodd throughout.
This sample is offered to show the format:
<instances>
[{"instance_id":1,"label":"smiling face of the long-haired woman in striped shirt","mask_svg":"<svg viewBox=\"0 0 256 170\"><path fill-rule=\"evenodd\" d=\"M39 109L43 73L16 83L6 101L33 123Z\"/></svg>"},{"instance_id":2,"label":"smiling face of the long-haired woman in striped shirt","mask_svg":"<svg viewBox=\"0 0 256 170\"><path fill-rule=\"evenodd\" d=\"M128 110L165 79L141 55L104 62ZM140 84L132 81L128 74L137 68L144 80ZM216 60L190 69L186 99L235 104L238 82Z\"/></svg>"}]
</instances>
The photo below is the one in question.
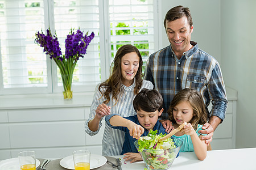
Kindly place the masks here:
<instances>
[{"instance_id":1,"label":"smiling face of the long-haired woman in striped shirt","mask_svg":"<svg viewBox=\"0 0 256 170\"><path fill-rule=\"evenodd\" d=\"M129 87L139 69L139 56L135 52L127 53L121 59L122 83Z\"/></svg>"}]
</instances>

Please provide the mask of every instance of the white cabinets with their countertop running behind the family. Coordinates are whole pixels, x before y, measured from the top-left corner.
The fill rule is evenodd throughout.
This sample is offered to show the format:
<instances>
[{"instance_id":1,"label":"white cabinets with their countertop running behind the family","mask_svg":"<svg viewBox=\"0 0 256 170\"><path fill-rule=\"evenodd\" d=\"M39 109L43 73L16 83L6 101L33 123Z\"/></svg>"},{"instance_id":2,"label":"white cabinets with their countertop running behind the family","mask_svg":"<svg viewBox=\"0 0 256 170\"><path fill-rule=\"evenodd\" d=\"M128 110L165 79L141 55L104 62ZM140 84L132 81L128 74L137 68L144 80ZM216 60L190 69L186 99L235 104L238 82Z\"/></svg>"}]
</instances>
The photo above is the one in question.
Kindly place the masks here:
<instances>
[{"instance_id":1,"label":"white cabinets with their countertop running behind the family","mask_svg":"<svg viewBox=\"0 0 256 170\"><path fill-rule=\"evenodd\" d=\"M227 88L229 100L224 122L214 131L212 149L235 148L236 91ZM15 158L20 151L34 150L38 158L63 158L86 148L100 154L105 121L98 134L85 133L93 94L6 98L0 97L0 160Z\"/></svg>"}]
</instances>

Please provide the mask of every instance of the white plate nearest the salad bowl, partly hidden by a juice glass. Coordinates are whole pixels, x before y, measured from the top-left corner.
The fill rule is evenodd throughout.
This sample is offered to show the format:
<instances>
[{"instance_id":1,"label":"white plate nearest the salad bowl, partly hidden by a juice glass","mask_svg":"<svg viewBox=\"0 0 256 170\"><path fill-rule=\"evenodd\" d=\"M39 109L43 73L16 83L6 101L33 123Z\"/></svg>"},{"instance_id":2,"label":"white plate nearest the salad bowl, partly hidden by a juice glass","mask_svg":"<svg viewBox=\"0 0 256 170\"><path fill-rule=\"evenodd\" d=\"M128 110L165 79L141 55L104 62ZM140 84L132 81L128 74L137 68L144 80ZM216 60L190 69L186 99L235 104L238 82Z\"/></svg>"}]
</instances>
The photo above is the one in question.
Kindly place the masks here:
<instances>
[{"instance_id":1,"label":"white plate nearest the salad bowl, partly hidden by a juice glass","mask_svg":"<svg viewBox=\"0 0 256 170\"><path fill-rule=\"evenodd\" d=\"M90 154L90 169L101 167L105 163L106 163L106 158L104 156ZM60 165L63 168L75 169L73 155L70 155L61 159Z\"/></svg>"}]
</instances>

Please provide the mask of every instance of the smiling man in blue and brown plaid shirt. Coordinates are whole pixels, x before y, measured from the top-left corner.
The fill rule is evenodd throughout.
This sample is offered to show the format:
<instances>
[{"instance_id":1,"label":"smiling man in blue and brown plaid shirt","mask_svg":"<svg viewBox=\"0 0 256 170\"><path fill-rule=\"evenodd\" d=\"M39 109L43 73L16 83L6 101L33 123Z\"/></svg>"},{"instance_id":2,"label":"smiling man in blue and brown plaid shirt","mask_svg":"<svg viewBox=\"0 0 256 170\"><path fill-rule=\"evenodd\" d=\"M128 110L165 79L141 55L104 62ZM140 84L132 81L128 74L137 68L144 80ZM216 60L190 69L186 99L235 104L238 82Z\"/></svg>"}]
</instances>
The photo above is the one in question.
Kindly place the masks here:
<instances>
[{"instance_id":1,"label":"smiling man in blue and brown plaid shirt","mask_svg":"<svg viewBox=\"0 0 256 170\"><path fill-rule=\"evenodd\" d=\"M216 59L199 49L196 42L191 41L193 22L189 8L171 8L164 19L164 27L171 44L151 54L144 78L150 80L163 96L163 120L168 119L166 111L172 98L184 88L201 92L206 107L212 100L209 121L203 126L205 130L199 131L208 134L203 139L209 143L213 131L224 120L228 105L220 65Z\"/></svg>"}]
</instances>

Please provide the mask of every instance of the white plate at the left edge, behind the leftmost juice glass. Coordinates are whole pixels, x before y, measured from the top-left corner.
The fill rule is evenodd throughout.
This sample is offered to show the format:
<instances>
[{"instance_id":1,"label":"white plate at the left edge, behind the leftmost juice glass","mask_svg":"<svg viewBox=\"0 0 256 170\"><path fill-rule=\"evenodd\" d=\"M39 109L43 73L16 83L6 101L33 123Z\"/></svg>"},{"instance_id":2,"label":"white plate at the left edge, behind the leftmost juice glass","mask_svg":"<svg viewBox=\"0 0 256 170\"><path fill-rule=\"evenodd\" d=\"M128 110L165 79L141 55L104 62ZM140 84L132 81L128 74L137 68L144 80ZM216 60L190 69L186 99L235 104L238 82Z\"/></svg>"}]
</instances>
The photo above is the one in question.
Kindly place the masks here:
<instances>
[{"instance_id":1,"label":"white plate at the left edge, behind the leftmost juice glass","mask_svg":"<svg viewBox=\"0 0 256 170\"><path fill-rule=\"evenodd\" d=\"M36 168L40 165L40 161L36 159ZM19 158L11 158L0 162L0 170L20 170Z\"/></svg>"}]
</instances>

